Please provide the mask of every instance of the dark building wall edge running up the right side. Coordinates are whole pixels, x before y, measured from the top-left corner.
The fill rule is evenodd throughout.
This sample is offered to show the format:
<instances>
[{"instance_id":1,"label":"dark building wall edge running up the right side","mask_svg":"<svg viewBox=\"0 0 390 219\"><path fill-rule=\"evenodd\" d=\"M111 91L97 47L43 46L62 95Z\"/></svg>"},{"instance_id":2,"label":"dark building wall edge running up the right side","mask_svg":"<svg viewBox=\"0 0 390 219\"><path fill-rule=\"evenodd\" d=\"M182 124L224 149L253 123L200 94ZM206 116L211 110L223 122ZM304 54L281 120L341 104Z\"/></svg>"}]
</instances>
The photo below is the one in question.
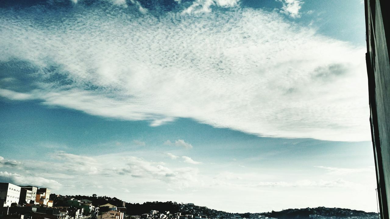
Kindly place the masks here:
<instances>
[{"instance_id":1,"label":"dark building wall edge running up the right side","mask_svg":"<svg viewBox=\"0 0 390 219\"><path fill-rule=\"evenodd\" d=\"M365 0L372 146L382 219L390 210L390 14L388 0Z\"/></svg>"}]
</instances>

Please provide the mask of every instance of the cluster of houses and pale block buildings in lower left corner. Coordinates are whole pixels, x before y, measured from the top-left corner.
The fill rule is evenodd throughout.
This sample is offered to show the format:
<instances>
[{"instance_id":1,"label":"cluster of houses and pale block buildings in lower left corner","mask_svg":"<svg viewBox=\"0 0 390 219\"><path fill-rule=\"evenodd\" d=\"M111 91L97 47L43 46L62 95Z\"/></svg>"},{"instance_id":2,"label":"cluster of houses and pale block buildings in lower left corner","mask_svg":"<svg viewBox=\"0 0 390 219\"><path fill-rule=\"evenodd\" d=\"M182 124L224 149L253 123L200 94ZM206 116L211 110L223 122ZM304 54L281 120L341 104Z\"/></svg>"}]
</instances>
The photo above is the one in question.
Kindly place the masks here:
<instances>
[{"instance_id":1,"label":"cluster of houses and pale block buildings in lower left corner","mask_svg":"<svg viewBox=\"0 0 390 219\"><path fill-rule=\"evenodd\" d=\"M0 218L6 219L125 219L126 215L125 202L119 207L94 206L90 200L50 194L48 188L11 183L0 183L1 203Z\"/></svg>"}]
</instances>

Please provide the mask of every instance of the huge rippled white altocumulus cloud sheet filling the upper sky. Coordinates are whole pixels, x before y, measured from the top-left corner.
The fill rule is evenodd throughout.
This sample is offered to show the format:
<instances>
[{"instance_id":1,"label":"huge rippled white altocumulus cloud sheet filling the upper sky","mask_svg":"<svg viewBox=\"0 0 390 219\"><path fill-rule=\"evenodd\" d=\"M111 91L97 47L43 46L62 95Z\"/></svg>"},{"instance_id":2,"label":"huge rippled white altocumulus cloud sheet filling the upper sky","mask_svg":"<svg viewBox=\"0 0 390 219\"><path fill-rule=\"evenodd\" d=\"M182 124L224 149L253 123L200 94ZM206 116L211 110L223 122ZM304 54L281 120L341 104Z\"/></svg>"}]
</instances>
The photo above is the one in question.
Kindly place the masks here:
<instances>
[{"instance_id":1,"label":"huge rippled white altocumulus cloud sheet filling the upper sky","mask_svg":"<svg viewBox=\"0 0 390 219\"><path fill-rule=\"evenodd\" d=\"M10 82L0 95L151 125L182 117L259 136L371 139L363 47L260 9L155 16L136 4L74 5L85 9L60 18L1 9L0 61L31 66L34 89Z\"/></svg>"}]
</instances>

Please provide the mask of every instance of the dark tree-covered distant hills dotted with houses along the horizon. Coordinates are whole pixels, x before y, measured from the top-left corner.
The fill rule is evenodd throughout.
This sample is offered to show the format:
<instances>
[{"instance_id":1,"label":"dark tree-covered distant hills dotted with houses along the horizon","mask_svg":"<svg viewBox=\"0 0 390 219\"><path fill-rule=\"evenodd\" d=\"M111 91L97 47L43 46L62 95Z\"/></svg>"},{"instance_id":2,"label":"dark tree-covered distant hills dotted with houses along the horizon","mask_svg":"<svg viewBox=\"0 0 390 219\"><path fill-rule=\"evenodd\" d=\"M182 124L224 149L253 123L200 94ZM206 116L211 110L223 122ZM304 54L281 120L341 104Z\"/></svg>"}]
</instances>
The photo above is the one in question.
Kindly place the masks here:
<instances>
[{"instance_id":1,"label":"dark tree-covered distant hills dotted with houses along the horizon","mask_svg":"<svg viewBox=\"0 0 390 219\"><path fill-rule=\"evenodd\" d=\"M117 198L111 198L108 196L67 196L69 198L75 198L78 200L87 199L92 201L95 206L103 205L105 203L111 203L113 205L121 206L122 200ZM261 213L230 213L223 212L207 207L201 207L197 205L187 205L184 203L177 203L172 201L159 202L151 201L140 203L125 203L126 214L128 215L142 215L151 212L151 210L157 210L159 212L169 211L170 213L180 212L182 215L203 215L207 218L218 219L264 219L265 217L273 217L278 219L335 219L335 218L350 218L350 219L376 219L378 214L375 212L364 212L361 210L351 210L346 208L291 208L285 209L279 212L261 212Z\"/></svg>"}]
</instances>

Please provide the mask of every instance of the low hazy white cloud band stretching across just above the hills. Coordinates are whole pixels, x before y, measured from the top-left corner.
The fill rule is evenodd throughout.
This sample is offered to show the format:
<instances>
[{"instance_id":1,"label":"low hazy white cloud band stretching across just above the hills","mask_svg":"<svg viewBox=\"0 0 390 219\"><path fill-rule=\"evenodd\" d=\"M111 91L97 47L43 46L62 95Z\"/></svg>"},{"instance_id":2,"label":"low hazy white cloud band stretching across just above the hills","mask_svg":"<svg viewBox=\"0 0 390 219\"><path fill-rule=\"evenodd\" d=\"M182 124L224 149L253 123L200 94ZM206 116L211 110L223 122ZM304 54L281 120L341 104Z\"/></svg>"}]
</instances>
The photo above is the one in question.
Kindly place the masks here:
<instances>
[{"instance_id":1,"label":"low hazy white cloud band stretching across just above the hills","mask_svg":"<svg viewBox=\"0 0 390 219\"><path fill-rule=\"evenodd\" d=\"M172 200L185 200L189 194L194 193L191 199L199 203L202 203L205 194L220 196L223 199L234 195L237 200L228 203L227 209L235 208L237 203L245 203L245 208L248 208L253 202L256 203L253 209L256 209L264 197L267 197L265 204L270 204L269 209L276 205L280 206L280 200L285 199L287 199L286 203L280 208L291 206L291 201L304 206L310 203L319 206L324 203L324 200L329 200L326 204L332 204L335 197L337 200L346 200L345 202L352 207L376 209L376 205L372 207L370 205L372 203L370 200L375 200L375 194L372 196L372 190L376 187L374 171L371 175L361 173L355 178L348 175L340 178L339 175L321 174L318 171L312 173L310 172L312 166L309 166L307 177L305 177L302 174L305 171L302 170L298 172L275 171L275 169L264 168L261 165L256 168L251 165L243 169L232 161L229 161L231 162L229 171L220 172L227 168L226 163L217 162L211 166L197 165L196 168L183 168L186 166L184 162L164 164L150 160L152 159L150 154L147 155L147 159L135 157L132 155L134 152L99 156L57 153L59 157L42 154L39 161L23 160L21 166L24 166L18 169L17 173L14 170L5 170L11 169L7 166L0 172L0 181L49 187L53 193L62 195L78 193L110 195L124 201L130 198L134 202L141 203L161 196L171 197ZM161 156L154 158L156 157L161 158ZM7 160L7 157L4 160ZM69 165L73 166L68 168ZM88 166L90 165L95 166L99 171L89 174ZM286 178L286 175L289 177ZM56 182L60 182L61 185ZM177 192L172 193L172 190ZM131 192L131 195L126 194L127 191ZM293 198L286 198L285 194L291 194ZM352 201L351 194L356 194L356 198ZM294 200L294 197L310 195L321 198L313 198L310 203L305 200ZM245 202L248 197L251 201ZM262 198L259 199L259 197ZM210 204L206 202L202 205L209 206ZM223 209L223 206L218 208Z\"/></svg>"}]
</instances>

